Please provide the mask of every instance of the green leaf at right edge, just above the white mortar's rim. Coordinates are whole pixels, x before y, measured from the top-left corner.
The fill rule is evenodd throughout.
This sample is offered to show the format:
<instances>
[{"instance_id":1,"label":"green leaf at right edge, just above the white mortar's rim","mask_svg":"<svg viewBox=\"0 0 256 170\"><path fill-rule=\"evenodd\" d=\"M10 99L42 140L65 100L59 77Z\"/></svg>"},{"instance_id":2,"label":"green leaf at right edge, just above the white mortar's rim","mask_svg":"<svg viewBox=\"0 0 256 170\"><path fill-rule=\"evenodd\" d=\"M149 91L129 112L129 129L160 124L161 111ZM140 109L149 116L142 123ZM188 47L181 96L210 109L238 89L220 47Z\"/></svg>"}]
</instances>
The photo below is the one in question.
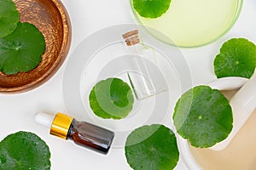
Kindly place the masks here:
<instances>
[{"instance_id":1,"label":"green leaf at right edge, just above the white mortar's rim","mask_svg":"<svg viewBox=\"0 0 256 170\"><path fill-rule=\"evenodd\" d=\"M220 54L214 59L214 71L221 77L253 76L256 67L256 46L244 38L224 42Z\"/></svg>"}]
</instances>

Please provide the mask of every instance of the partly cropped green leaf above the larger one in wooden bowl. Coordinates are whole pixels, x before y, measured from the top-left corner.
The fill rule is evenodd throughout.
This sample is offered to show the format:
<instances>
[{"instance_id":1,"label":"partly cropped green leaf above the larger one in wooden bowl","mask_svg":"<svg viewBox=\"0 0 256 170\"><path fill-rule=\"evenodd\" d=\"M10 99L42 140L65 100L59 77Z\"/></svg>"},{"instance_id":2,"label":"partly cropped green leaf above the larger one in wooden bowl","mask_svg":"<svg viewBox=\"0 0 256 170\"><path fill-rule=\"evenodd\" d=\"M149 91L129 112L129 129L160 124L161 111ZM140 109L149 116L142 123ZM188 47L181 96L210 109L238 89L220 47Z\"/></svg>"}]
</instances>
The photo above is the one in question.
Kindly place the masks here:
<instances>
[{"instance_id":1,"label":"partly cropped green leaf above the larger one in wooden bowl","mask_svg":"<svg viewBox=\"0 0 256 170\"><path fill-rule=\"evenodd\" d=\"M15 31L20 14L12 0L0 1L0 37L5 37Z\"/></svg>"}]
</instances>

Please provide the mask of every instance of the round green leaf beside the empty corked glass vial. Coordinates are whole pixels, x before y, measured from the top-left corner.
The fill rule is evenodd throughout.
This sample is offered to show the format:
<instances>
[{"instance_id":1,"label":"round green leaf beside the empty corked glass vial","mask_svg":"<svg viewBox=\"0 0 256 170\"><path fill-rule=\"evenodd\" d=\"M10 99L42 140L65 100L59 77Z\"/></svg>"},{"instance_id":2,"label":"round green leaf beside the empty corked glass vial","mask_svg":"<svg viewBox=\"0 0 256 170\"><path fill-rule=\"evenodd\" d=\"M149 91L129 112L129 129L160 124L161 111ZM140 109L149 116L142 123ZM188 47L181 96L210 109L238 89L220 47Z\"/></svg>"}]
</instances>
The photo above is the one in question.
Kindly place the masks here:
<instances>
[{"instance_id":1,"label":"round green leaf beside the empty corked glass vial","mask_svg":"<svg viewBox=\"0 0 256 170\"><path fill-rule=\"evenodd\" d=\"M90 108L105 119L121 119L132 110L133 95L130 86L119 78L108 78L96 85L90 91Z\"/></svg>"}]
</instances>

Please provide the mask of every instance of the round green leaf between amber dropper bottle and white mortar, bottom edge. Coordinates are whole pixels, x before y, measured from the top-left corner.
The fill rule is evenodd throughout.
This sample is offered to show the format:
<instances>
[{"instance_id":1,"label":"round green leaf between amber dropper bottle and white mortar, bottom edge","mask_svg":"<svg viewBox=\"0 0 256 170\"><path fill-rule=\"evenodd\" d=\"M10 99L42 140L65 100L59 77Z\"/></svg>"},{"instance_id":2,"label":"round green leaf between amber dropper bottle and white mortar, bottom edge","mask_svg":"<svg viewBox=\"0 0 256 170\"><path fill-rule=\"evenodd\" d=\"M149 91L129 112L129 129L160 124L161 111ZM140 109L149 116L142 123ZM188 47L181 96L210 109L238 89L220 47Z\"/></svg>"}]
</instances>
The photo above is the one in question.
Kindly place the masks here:
<instances>
[{"instance_id":1,"label":"round green leaf between amber dropper bottle and white mortar, bottom edge","mask_svg":"<svg viewBox=\"0 0 256 170\"><path fill-rule=\"evenodd\" d=\"M139 127L126 139L125 156L135 170L173 169L179 156L176 136L163 125Z\"/></svg>"}]
</instances>

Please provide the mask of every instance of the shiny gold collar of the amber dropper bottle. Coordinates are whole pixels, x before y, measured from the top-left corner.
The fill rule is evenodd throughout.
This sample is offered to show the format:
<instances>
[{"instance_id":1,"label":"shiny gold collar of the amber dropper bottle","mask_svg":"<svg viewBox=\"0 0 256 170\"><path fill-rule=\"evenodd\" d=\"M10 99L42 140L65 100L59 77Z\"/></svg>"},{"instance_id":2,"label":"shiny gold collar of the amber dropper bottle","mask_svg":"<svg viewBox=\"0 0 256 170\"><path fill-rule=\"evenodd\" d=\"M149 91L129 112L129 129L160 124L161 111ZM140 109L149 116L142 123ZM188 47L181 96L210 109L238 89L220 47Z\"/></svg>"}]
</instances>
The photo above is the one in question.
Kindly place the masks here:
<instances>
[{"instance_id":1,"label":"shiny gold collar of the amber dropper bottle","mask_svg":"<svg viewBox=\"0 0 256 170\"><path fill-rule=\"evenodd\" d=\"M51 124L49 133L61 139L67 139L68 129L72 122L73 117L57 113Z\"/></svg>"}]
</instances>

